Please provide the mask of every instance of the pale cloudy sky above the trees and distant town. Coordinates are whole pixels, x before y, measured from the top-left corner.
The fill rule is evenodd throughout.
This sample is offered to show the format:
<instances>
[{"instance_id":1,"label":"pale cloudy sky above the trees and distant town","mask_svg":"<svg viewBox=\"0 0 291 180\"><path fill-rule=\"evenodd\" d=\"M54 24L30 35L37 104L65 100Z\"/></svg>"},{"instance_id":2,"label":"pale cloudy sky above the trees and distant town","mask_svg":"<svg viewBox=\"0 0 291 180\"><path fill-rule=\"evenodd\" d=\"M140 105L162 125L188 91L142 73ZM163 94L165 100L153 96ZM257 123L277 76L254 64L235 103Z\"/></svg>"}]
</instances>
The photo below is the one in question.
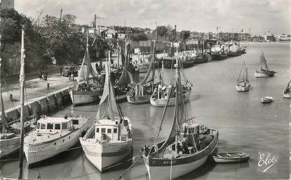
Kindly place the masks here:
<instances>
[{"instance_id":1,"label":"pale cloudy sky above the trees and distant town","mask_svg":"<svg viewBox=\"0 0 291 180\"><path fill-rule=\"evenodd\" d=\"M177 30L290 34L291 0L15 0L28 17L76 15L90 25L94 14L101 25L149 27L177 25Z\"/></svg>"}]
</instances>

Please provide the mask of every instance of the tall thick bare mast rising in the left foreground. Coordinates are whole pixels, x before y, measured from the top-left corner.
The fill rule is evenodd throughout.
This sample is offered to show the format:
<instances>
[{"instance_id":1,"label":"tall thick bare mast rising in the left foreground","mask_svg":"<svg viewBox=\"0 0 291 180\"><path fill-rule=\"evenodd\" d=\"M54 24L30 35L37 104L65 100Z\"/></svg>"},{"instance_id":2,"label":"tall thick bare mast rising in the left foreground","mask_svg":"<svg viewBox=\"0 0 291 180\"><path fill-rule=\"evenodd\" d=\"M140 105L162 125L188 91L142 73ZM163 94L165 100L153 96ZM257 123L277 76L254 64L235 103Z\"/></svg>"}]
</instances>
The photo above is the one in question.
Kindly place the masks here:
<instances>
[{"instance_id":1,"label":"tall thick bare mast rising in the left foreground","mask_svg":"<svg viewBox=\"0 0 291 180\"><path fill-rule=\"evenodd\" d=\"M22 179L22 165L23 165L23 141L24 141L24 116L23 108L25 105L25 29L22 26L21 34L21 68L20 68L20 172L18 179Z\"/></svg>"}]
</instances>

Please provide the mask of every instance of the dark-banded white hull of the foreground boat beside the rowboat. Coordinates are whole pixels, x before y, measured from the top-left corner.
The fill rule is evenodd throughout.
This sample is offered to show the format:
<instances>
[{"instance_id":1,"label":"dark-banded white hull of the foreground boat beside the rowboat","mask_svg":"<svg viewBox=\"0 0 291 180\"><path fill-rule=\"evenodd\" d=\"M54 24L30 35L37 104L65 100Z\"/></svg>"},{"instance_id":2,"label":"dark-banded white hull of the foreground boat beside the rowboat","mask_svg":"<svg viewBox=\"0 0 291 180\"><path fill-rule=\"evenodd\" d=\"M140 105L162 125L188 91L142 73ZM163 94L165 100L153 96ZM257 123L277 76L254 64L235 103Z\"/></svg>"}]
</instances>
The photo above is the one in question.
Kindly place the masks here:
<instances>
[{"instance_id":1,"label":"dark-banded white hull of the foreground boat beside the rowboat","mask_svg":"<svg viewBox=\"0 0 291 180\"><path fill-rule=\"evenodd\" d=\"M208 160L208 156L216 152L217 147L218 132L208 147L193 155L184 158L173 158L172 160L166 158L149 158L145 155L142 158L144 158L149 179L175 179L201 167Z\"/></svg>"}]
</instances>

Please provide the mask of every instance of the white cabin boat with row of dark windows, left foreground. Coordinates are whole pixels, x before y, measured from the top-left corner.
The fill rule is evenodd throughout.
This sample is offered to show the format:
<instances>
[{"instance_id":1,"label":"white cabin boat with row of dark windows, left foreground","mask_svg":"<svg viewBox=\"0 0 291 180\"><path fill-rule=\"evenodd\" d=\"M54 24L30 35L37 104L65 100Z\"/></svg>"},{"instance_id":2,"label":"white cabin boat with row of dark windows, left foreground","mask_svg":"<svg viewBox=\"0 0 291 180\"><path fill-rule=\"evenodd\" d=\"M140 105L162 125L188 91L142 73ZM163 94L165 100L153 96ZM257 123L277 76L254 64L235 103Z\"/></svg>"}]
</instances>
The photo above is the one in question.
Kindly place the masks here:
<instances>
[{"instance_id":1,"label":"white cabin boat with row of dark windows, left foreground","mask_svg":"<svg viewBox=\"0 0 291 180\"><path fill-rule=\"evenodd\" d=\"M74 146L79 137L93 124L85 116L42 117L36 129L25 136L27 164L47 160Z\"/></svg>"}]
</instances>

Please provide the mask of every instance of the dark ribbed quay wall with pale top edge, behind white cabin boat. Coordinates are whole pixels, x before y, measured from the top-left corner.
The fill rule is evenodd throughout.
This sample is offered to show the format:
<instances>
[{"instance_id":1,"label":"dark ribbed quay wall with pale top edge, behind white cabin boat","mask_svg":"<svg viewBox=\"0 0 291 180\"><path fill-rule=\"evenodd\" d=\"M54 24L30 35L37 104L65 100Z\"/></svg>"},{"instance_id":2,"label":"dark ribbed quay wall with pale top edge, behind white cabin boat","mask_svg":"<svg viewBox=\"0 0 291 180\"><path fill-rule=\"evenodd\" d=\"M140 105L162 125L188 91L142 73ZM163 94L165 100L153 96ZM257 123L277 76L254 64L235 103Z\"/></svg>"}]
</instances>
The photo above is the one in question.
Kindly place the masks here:
<instances>
[{"instance_id":1,"label":"dark ribbed quay wall with pale top edge, behind white cabin boat","mask_svg":"<svg viewBox=\"0 0 291 180\"><path fill-rule=\"evenodd\" d=\"M69 87L60 89L46 96L34 98L31 101L25 103L23 115L25 120L29 120L29 117L36 115L50 115L57 110L72 104L71 97L69 96ZM0 113L1 114L1 113ZM20 119L20 105L5 110L6 118L9 122L14 122Z\"/></svg>"}]
</instances>

